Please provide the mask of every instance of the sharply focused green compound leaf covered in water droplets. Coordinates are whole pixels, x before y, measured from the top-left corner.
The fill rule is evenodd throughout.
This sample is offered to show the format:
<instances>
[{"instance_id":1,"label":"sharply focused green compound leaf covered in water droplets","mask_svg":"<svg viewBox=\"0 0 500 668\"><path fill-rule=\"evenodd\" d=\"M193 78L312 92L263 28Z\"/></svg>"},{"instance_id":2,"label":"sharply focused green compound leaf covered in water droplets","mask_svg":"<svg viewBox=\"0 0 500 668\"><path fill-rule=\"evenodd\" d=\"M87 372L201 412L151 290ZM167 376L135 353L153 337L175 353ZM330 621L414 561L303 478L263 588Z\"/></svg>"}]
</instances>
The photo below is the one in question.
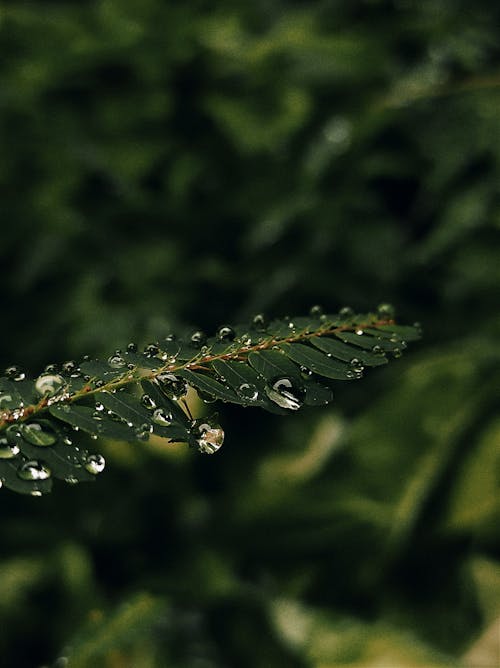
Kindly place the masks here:
<instances>
[{"instance_id":1,"label":"sharply focused green compound leaf covered in water droplets","mask_svg":"<svg viewBox=\"0 0 500 668\"><path fill-rule=\"evenodd\" d=\"M52 477L91 480L104 467L72 441L147 441L151 434L216 452L224 434L216 419L193 420L182 407L186 384L206 395L280 415L332 400L332 382L359 378L364 366L401 354L417 327L396 325L373 313L275 319L224 325L216 335L184 332L147 345L129 345L107 361L84 359L38 379L0 378L0 480L23 493L48 491ZM71 368L70 368L71 367ZM22 374L17 374L21 376ZM17 449L17 452L13 452ZM9 450L11 448L11 450ZM19 476L27 462L42 462L37 485ZM1 472L4 473L1 473ZM31 473L36 477L36 467ZM44 477L45 476L45 477ZM26 475L25 475L26 477ZM43 479L42 479L43 478ZM42 485L43 482L43 485Z\"/></svg>"}]
</instances>

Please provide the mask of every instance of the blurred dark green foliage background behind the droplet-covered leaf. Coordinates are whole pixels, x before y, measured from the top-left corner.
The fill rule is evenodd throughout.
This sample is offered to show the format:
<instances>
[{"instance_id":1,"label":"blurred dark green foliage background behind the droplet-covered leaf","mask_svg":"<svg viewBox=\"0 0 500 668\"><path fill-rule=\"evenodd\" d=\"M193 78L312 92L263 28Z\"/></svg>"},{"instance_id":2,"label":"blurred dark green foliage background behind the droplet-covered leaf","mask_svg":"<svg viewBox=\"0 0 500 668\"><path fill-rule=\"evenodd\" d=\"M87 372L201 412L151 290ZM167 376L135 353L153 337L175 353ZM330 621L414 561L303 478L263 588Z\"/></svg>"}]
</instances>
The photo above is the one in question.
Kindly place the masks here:
<instances>
[{"instance_id":1,"label":"blurred dark green foliage background behind the droplet-covered leaf","mask_svg":"<svg viewBox=\"0 0 500 668\"><path fill-rule=\"evenodd\" d=\"M395 304L425 336L214 457L2 490L6 668L500 662L500 5L0 10L0 363ZM196 406L202 411L203 406Z\"/></svg>"}]
</instances>

